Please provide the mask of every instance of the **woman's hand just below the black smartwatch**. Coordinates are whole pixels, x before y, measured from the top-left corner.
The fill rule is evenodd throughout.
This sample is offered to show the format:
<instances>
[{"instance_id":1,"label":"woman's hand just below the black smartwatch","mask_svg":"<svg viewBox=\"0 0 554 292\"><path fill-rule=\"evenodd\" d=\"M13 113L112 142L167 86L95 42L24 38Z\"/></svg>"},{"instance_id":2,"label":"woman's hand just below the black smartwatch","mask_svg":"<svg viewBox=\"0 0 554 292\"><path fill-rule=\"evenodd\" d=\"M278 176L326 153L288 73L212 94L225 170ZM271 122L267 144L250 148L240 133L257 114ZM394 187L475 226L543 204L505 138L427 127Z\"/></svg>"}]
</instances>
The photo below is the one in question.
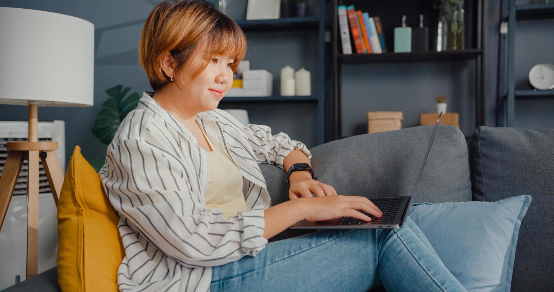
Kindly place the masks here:
<instances>
[{"instance_id":1,"label":"woman's hand just below the black smartwatch","mask_svg":"<svg viewBox=\"0 0 554 292\"><path fill-rule=\"evenodd\" d=\"M315 193L317 197L336 196L335 189L325 183L316 181L311 178L307 171L295 171L290 174L290 189L289 198L291 200L306 197L313 197Z\"/></svg>"}]
</instances>

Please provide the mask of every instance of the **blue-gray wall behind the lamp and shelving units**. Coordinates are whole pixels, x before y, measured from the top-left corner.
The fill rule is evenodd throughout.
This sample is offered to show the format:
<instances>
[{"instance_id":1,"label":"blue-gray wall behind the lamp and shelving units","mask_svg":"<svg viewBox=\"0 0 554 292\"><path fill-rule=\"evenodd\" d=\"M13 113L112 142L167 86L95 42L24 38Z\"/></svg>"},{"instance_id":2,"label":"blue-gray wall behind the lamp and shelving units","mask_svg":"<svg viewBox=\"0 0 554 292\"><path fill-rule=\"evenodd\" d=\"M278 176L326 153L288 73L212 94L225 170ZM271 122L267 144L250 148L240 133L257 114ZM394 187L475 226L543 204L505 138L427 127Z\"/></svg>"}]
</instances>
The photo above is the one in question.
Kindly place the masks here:
<instances>
[{"instance_id":1,"label":"blue-gray wall behind the lamp and shelving units","mask_svg":"<svg viewBox=\"0 0 554 292\"><path fill-rule=\"evenodd\" d=\"M66 163L75 145L85 157L105 155L106 145L90 132L94 117L107 99L105 90L117 84L131 87L131 92L151 90L146 75L137 63L137 44L142 25L156 6L155 0L0 0L0 6L38 9L86 19L95 25L95 68L93 107L40 107L39 120L60 119L66 122ZM211 1L216 3L216 1ZM314 0L309 14L317 13ZM229 14L245 17L247 0L229 1ZM523 4L523 3L519 3ZM496 126L496 83L498 62L499 1L489 0L485 17L485 98L486 125ZM282 15L286 11L281 12ZM552 20L518 22L516 33L516 84L524 86L526 74L536 63L554 63ZM279 94L280 68L305 66L312 73L312 91L316 91L315 32L247 32L247 59L253 69L273 73L274 94ZM550 49L550 50L549 50ZM449 97L448 111L460 113L461 130L470 135L474 125L474 62L384 63L345 65L342 76L342 134L362 134L366 131L367 111L401 110L403 127L416 126L420 112L434 111L434 96ZM78 74L76 72L75 74ZM367 80L372 80L367 82ZM430 81L431 80L431 81ZM250 122L266 124L274 132L284 131L291 138L316 145L316 105L303 103L222 104L220 107L249 110ZM271 108L271 111L267 109ZM554 99L516 101L516 126L554 127ZM299 117L301 116L301 117ZM0 120L27 120L27 107L0 105Z\"/></svg>"}]
</instances>

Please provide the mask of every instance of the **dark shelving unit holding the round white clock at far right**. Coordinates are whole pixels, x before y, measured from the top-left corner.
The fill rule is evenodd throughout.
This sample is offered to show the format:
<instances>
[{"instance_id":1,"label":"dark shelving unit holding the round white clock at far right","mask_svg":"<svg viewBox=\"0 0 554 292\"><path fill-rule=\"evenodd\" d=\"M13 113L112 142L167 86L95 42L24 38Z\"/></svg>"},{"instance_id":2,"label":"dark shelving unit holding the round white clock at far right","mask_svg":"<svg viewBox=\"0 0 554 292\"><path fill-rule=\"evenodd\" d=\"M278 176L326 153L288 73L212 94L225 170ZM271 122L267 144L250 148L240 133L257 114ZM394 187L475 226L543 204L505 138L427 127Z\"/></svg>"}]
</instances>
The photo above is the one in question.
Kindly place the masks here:
<instances>
[{"instance_id":1,"label":"dark shelving unit holding the round white clock at far right","mask_svg":"<svg viewBox=\"0 0 554 292\"><path fill-rule=\"evenodd\" d=\"M554 90L515 89L516 22L541 18L554 18L554 4L516 5L515 0L502 0L498 66L499 87L496 106L496 124L498 126L513 127L515 125L516 98L554 98Z\"/></svg>"}]
</instances>

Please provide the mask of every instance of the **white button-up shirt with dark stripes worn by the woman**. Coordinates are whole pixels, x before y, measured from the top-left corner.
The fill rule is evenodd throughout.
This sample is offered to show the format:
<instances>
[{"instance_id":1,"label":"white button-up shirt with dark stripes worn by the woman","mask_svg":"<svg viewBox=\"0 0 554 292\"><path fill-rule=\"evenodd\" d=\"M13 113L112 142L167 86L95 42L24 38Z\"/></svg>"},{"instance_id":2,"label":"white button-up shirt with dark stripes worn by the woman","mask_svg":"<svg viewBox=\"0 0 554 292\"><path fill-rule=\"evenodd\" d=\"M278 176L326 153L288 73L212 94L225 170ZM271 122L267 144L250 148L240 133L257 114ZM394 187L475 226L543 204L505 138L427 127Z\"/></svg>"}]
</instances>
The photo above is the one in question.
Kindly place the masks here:
<instances>
[{"instance_id":1,"label":"white button-up shirt with dark stripes worn by the woman","mask_svg":"<svg viewBox=\"0 0 554 292\"><path fill-rule=\"evenodd\" d=\"M288 135L263 125L242 125L223 110L201 112L197 122L238 166L248 210L227 219L206 210L206 152L196 137L143 93L106 150L100 178L120 217L125 257L120 291L209 291L212 267L255 256L268 240L264 209L271 207L258 163L284 168L293 149L311 154Z\"/></svg>"}]
</instances>

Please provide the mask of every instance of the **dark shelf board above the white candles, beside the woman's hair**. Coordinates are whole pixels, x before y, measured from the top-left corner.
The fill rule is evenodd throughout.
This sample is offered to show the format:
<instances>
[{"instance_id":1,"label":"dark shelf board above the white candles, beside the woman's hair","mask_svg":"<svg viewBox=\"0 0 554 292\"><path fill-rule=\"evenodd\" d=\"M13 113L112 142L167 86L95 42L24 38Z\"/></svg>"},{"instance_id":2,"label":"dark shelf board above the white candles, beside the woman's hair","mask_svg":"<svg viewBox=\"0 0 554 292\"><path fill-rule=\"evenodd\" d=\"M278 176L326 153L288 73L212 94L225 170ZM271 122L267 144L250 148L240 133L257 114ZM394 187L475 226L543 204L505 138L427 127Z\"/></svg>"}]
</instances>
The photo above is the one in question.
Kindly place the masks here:
<instances>
[{"instance_id":1,"label":"dark shelf board above the white candles, beside the woman's hair","mask_svg":"<svg viewBox=\"0 0 554 292\"><path fill-rule=\"evenodd\" d=\"M237 22L244 32L316 29L319 26L319 18L315 16L257 19L252 21L239 19L235 20L235 22Z\"/></svg>"}]
</instances>

